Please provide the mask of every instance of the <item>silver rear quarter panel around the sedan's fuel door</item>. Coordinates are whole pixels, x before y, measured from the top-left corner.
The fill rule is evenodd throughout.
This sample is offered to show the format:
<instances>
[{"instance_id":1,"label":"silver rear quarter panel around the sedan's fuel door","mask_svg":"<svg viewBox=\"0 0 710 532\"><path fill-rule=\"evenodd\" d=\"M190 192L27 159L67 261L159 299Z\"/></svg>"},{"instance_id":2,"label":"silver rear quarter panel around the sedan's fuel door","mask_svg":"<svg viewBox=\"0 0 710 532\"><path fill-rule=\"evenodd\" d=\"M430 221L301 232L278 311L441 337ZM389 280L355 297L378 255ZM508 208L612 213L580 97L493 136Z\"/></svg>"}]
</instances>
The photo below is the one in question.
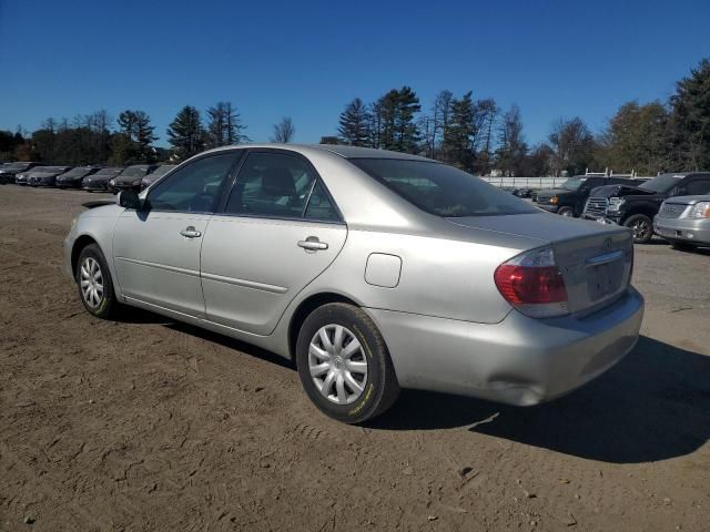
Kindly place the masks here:
<instances>
[{"instance_id":1,"label":"silver rear quarter panel around the sedan's fuel door","mask_svg":"<svg viewBox=\"0 0 710 532\"><path fill-rule=\"evenodd\" d=\"M402 259L393 288L366 282L371 254ZM498 265L517 248L466 241L351 229L335 262L305 290L335 291L364 307L495 324L510 311L493 280Z\"/></svg>"}]
</instances>

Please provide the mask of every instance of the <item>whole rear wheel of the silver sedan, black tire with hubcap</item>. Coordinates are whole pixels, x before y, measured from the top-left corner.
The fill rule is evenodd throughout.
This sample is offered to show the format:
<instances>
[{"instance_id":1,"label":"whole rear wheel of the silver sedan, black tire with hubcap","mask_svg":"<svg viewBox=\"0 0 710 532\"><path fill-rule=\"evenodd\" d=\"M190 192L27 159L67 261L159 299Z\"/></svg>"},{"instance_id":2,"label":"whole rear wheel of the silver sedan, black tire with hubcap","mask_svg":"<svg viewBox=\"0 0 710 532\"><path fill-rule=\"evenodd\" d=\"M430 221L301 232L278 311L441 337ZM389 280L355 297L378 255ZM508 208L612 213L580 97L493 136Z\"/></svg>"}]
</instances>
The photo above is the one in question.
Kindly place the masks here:
<instances>
[{"instance_id":1,"label":"whole rear wheel of the silver sedan, black tire with hubcap","mask_svg":"<svg viewBox=\"0 0 710 532\"><path fill-rule=\"evenodd\" d=\"M308 315L298 331L296 365L308 398L338 421L373 419L399 395L382 334L353 305L332 303Z\"/></svg>"}]
</instances>

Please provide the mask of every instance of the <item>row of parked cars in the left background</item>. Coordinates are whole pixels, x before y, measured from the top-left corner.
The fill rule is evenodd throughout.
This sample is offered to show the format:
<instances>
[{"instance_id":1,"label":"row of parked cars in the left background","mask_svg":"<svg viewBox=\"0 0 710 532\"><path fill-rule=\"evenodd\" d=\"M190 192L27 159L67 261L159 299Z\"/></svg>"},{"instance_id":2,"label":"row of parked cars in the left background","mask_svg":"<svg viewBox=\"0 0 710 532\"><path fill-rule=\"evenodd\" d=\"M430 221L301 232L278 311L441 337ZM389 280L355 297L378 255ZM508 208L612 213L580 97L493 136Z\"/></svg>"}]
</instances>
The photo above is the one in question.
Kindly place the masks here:
<instances>
[{"instance_id":1,"label":"row of parked cars in the left background","mask_svg":"<svg viewBox=\"0 0 710 532\"><path fill-rule=\"evenodd\" d=\"M23 162L0 165L0 184L83 188L89 192L142 191L165 175L173 164L121 166L45 166Z\"/></svg>"}]
</instances>

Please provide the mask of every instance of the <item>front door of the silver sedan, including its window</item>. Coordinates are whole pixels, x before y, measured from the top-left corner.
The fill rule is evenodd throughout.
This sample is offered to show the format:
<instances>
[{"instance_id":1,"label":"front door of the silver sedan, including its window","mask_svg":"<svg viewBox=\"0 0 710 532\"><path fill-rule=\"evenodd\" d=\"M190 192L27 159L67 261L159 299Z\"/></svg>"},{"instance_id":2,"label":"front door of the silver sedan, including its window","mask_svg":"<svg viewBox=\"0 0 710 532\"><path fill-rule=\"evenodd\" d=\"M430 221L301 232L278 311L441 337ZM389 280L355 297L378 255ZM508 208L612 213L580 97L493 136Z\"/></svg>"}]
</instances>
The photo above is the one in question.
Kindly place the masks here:
<instances>
[{"instance_id":1,"label":"front door of the silver sedan, including its window","mask_svg":"<svg viewBox=\"0 0 710 532\"><path fill-rule=\"evenodd\" d=\"M200 249L241 151L211 154L152 188L141 211L115 225L113 263L121 291L138 301L204 317Z\"/></svg>"}]
</instances>

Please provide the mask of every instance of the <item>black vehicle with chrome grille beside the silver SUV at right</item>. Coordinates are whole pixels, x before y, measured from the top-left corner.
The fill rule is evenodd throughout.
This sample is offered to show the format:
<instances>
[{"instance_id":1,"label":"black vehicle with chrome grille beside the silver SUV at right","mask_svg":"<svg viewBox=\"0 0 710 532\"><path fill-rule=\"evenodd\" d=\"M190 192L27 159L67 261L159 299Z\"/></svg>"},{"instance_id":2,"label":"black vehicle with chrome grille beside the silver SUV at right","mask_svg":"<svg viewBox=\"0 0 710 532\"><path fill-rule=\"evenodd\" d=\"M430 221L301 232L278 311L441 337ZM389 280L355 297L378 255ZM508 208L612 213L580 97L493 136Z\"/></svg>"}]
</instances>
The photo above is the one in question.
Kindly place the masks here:
<instances>
[{"instance_id":1,"label":"black vehicle with chrome grille beside the silver SUV at right","mask_svg":"<svg viewBox=\"0 0 710 532\"><path fill-rule=\"evenodd\" d=\"M697 194L710 194L710 172L661 174L640 186L600 186L587 200L584 217L630 227L633 242L645 244L653 236L653 216L665 200Z\"/></svg>"}]
</instances>

